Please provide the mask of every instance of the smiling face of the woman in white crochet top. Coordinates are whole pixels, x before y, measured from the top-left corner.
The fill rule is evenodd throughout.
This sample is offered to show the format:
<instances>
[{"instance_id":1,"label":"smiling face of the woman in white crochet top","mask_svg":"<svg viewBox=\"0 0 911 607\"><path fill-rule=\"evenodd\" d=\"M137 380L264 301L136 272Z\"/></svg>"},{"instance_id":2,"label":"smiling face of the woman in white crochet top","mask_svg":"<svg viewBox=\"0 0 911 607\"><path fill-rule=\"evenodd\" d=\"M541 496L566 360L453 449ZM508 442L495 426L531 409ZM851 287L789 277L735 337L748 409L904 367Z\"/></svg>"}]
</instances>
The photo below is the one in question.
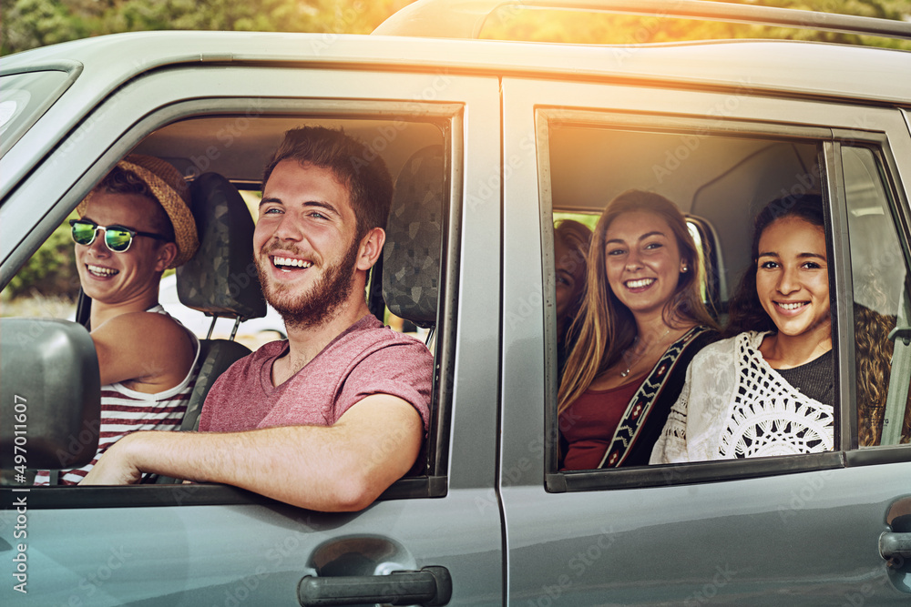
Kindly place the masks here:
<instances>
[{"instance_id":1,"label":"smiling face of the woman in white crochet top","mask_svg":"<svg viewBox=\"0 0 911 607\"><path fill-rule=\"evenodd\" d=\"M832 336L823 228L778 219L759 238L756 292L779 334L823 341Z\"/></svg>"}]
</instances>

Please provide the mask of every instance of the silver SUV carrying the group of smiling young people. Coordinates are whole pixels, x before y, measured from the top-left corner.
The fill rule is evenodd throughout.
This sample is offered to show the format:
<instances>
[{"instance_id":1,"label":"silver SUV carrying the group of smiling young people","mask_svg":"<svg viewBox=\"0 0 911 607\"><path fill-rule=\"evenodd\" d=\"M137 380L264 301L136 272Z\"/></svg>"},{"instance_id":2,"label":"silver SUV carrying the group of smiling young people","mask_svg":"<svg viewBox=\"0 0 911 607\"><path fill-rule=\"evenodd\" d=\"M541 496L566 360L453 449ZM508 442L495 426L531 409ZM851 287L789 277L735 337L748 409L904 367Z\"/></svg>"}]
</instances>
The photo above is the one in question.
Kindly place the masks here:
<instances>
[{"instance_id":1,"label":"silver SUV carrying the group of smiling young people","mask_svg":"<svg viewBox=\"0 0 911 607\"><path fill-rule=\"evenodd\" d=\"M94 452L97 360L75 323L4 319L0 603L911 601L911 444L896 428L911 379L911 54L463 39L499 4L422 0L371 36L138 33L4 58L0 285L130 152L255 196L285 130L343 126L397 176L399 247L371 304L433 330L437 374L424 473L355 514L208 484L33 488L28 469ZM911 38L911 24L744 5L563 6ZM554 220L630 187L690 219L721 314L755 212L823 195L835 450L558 470ZM245 271L225 290L246 289ZM895 319L877 388L896 415L875 446L858 446L855 305Z\"/></svg>"}]
</instances>

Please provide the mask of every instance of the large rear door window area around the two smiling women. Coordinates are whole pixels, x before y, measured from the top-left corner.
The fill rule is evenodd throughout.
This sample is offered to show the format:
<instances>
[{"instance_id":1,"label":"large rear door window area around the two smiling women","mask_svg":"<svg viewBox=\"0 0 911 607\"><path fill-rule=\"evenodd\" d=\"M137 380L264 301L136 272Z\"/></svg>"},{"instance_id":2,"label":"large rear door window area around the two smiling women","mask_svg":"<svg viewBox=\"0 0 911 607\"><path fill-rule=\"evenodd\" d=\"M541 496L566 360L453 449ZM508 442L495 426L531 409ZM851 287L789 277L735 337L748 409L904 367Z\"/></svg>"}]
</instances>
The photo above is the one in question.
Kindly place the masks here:
<instances>
[{"instance_id":1,"label":"large rear door window area around the two smiling women","mask_svg":"<svg viewBox=\"0 0 911 607\"><path fill-rule=\"evenodd\" d=\"M820 162L825 137L822 131L816 140L787 137L785 128L781 129L781 137L750 137L747 133L736 136L730 131L716 133L711 128L691 131L669 129L661 132L660 129L645 126L594 126L592 123L597 121L594 113L579 112L578 123L573 124L576 116L561 109L559 120L548 124L548 152L544 162L548 167L546 175L550 176L552 187L553 220L544 221L544 229L548 230L556 223L559 230L560 220L568 217L568 211L600 213L611 198L626 190L643 190L666 197L686 218L687 228L699 256L694 262L699 266L701 274L701 300L722 328L728 320L729 304L742 276L754 264L751 253L752 221L760 210L773 200L787 200L789 197L804 195L822 197L825 207L831 204L826 196L824 179L821 178L824 175ZM578 150L585 150L585 153L580 154ZM831 249L831 227L827 222L824 234L824 248ZM550 238L546 235L542 242L553 242L553 246L558 246L558 234L554 233L553 240ZM593 244L591 255L594 254L594 247ZM558 263L557 257L557 265L551 271L558 271ZM554 275L551 283L553 286L550 288L555 290L551 297L556 296L557 299L558 282L559 277ZM835 319L835 315L836 307L832 305L829 318ZM563 358L566 357L565 349L571 348L571 344L567 346L560 341L564 339L566 323L559 326L558 322L556 315L548 319L551 328L556 328L549 331L552 339L555 339L555 346L548 346L551 369L556 371L554 377L557 378L556 385L548 392L553 398L549 410L555 435L553 452L548 461L552 466L550 470L554 471L559 471L563 465L563 456L568 448L568 432L578 434L574 440L578 440L579 436L584 439L587 433L597 433L597 430L589 428L588 421L582 421L581 428L573 429L575 418L572 416L555 420L559 381L565 370ZM565 339L571 340L574 337L568 334ZM837 363L834 355L825 360L824 374L834 378L834 366ZM830 379L830 383L834 383L834 379ZM665 386L666 384L661 384L659 389L666 389ZM826 404L834 407L837 412L839 396L837 389L834 390L829 397L831 402ZM641 394L636 398L640 396ZM639 423L636 418L642 411L649 413L649 404L645 398L642 400L645 403L643 407L634 407L633 400L635 399L630 400L625 411L619 412L621 424L611 430L609 439L597 437L597 440L593 440L597 449L604 452L605 459L599 464L604 470L596 472L592 470L594 466L583 470L564 470L548 479L553 481L550 487L552 491L623 487L630 482L665 484L731 475L774 473L773 470L778 466L774 458L649 466L648 457L645 456L645 460L640 460L632 469L621 465L619 470L608 470L611 467L608 457L611 446L619 445L620 450L632 449L637 440L643 441L643 445L644 442L653 445L656 440L654 434L636 434ZM837 436L841 421L837 420L837 415L835 417L834 422L829 423L829 432ZM650 450L650 447L647 449ZM834 449L834 446L829 448L830 451ZM834 464L829 455L834 453L789 456L791 461L786 465L797 469L825 467Z\"/></svg>"}]
</instances>

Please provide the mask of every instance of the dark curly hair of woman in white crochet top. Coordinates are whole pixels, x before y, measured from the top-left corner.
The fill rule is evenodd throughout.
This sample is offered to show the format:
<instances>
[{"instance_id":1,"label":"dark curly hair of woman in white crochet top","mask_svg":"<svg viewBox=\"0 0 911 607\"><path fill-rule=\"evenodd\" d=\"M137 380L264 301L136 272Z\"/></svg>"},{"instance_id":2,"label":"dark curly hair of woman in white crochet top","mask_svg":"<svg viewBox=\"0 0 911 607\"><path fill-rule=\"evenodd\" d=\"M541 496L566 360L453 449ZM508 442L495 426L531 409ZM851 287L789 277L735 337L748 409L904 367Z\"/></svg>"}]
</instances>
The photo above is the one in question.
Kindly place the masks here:
<instances>
[{"instance_id":1,"label":"dark curly hair of woman in white crochet top","mask_svg":"<svg viewBox=\"0 0 911 607\"><path fill-rule=\"evenodd\" d=\"M743 273L740 286L728 307L728 325L725 337L732 337L743 331L777 331L772 319L763 309L756 292L756 263L759 259L759 239L765 228L782 218L801 218L804 221L825 228L823 198L816 194L776 198L759 212L753 222L752 263Z\"/></svg>"}]
</instances>

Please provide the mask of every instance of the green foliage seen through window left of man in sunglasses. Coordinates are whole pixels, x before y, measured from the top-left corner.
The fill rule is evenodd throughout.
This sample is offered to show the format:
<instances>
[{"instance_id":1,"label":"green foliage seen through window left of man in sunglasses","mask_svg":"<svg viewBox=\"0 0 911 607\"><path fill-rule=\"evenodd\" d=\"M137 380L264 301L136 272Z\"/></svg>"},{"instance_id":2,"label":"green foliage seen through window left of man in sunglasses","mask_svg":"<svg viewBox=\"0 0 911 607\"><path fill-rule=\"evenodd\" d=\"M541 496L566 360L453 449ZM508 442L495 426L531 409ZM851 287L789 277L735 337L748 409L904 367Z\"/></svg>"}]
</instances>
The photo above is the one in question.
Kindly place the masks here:
<instances>
[{"instance_id":1,"label":"green foliage seen through window left of man in sunglasses","mask_svg":"<svg viewBox=\"0 0 911 607\"><path fill-rule=\"evenodd\" d=\"M69 224L57 227L4 289L10 298L46 295L73 298L79 288Z\"/></svg>"}]
</instances>

